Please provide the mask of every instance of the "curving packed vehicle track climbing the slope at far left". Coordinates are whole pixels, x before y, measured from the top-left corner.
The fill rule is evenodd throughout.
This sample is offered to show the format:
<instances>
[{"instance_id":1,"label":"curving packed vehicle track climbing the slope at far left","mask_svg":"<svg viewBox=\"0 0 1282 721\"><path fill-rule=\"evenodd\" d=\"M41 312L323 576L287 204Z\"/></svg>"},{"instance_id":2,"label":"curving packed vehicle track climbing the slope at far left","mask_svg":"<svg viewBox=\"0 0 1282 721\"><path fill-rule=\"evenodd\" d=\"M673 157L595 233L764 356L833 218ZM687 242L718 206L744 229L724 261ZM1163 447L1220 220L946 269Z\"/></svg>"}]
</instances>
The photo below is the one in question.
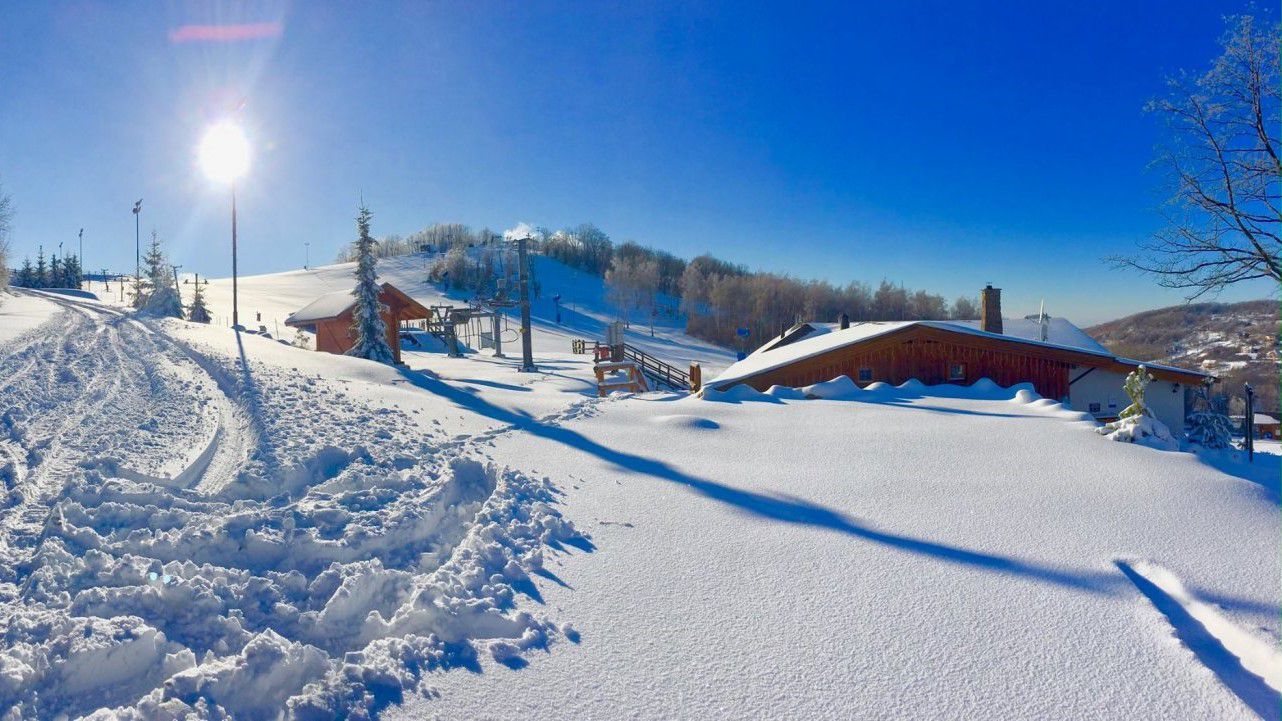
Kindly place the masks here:
<instances>
[{"instance_id":1,"label":"curving packed vehicle track climbing the slope at far left","mask_svg":"<svg viewBox=\"0 0 1282 721\"><path fill-rule=\"evenodd\" d=\"M172 477L135 471L103 453L135 450L136 435L153 425L176 425L172 394L186 367L204 373L191 352L126 313L56 294L36 294L65 310L41 332L18 339L0 357L6 378L0 409L0 480L8 498L0 509L0 579L17 581L45 538L53 509L87 468L168 486L229 479L247 458L253 436L226 393L209 377L215 427L205 448ZM13 366L13 373L6 372ZM190 375L190 373L187 373ZM190 393L190 391L188 391ZM162 405L151 399L160 396ZM168 402L168 404L167 404ZM203 402L196 400L196 405ZM159 418L158 418L159 417ZM179 434L187 432L182 428ZM169 444L171 448L190 448Z\"/></svg>"}]
</instances>

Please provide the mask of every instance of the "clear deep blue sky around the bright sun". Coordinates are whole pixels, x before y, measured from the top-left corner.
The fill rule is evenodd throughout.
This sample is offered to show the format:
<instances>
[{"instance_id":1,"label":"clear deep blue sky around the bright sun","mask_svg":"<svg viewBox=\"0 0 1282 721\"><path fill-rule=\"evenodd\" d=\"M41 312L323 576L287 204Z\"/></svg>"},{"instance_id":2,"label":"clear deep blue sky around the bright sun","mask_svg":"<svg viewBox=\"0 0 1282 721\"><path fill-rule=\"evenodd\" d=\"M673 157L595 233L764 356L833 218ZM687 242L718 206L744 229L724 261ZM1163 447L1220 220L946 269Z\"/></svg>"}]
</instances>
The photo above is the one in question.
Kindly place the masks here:
<instances>
[{"instance_id":1,"label":"clear deep blue sky around the bright sun","mask_svg":"<svg viewBox=\"0 0 1282 721\"><path fill-rule=\"evenodd\" d=\"M241 269L374 231L591 221L683 257L1081 323L1181 300L1103 260L1160 226L1142 112L1218 54L1226 3L23 3L0 23L0 182L19 258L132 266L133 200L229 273L195 164L238 110ZM174 42L191 24L274 37ZM1261 298L1268 285L1223 294Z\"/></svg>"}]
</instances>

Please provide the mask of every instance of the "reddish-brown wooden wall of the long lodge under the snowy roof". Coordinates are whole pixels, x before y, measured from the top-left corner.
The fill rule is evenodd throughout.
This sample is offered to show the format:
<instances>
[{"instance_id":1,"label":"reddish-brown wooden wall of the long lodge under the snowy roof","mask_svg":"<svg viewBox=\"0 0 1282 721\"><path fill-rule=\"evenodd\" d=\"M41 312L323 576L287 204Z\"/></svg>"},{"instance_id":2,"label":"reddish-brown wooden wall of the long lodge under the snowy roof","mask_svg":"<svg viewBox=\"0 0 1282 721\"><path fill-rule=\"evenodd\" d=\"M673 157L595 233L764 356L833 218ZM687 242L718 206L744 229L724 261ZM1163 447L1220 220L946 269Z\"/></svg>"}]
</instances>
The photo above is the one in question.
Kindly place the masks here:
<instances>
[{"instance_id":1,"label":"reddish-brown wooden wall of the long lodge under the snowy roof","mask_svg":"<svg viewBox=\"0 0 1282 721\"><path fill-rule=\"evenodd\" d=\"M927 385L973 384L987 377L997 385L1031 382L1044 398L1068 396L1069 372L1088 354L1037 348L1018 341L974 337L937 328L910 327L854 346L838 348L774 371L751 376L745 382L756 390L772 385L804 386L850 376L859 385L882 381L899 385L917 378ZM965 378L947 377L949 366L965 364ZM859 369L872 368L872 381L859 381Z\"/></svg>"}]
</instances>

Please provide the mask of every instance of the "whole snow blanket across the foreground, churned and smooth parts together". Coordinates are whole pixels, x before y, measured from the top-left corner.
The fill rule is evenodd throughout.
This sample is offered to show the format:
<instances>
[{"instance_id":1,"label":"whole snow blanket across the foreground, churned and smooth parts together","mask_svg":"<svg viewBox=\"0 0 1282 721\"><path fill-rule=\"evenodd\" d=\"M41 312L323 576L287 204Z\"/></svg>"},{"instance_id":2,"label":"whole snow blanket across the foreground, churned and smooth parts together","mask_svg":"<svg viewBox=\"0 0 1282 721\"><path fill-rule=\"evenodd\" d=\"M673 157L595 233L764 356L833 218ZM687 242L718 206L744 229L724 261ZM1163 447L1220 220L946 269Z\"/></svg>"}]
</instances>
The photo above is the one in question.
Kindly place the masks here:
<instances>
[{"instance_id":1,"label":"whole snow blanket across the foreground, churned and smooth parts together","mask_svg":"<svg viewBox=\"0 0 1282 721\"><path fill-rule=\"evenodd\" d=\"M242 317L350 272L245 278ZM32 301L0 348L0 717L1276 706L1277 457L1111 443L985 382L596 399L592 282L541 316L538 373Z\"/></svg>"}]
</instances>

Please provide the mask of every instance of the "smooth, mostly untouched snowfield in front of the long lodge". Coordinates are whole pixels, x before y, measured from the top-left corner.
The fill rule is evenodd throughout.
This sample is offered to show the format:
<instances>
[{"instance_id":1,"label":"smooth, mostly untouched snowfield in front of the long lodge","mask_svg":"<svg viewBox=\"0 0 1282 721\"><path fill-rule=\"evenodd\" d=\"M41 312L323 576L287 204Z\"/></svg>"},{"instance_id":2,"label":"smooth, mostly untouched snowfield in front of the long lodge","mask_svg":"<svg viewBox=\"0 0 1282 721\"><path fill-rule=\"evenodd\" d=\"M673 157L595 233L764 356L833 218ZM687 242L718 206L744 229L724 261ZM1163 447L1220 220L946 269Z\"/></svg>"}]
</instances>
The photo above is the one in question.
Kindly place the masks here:
<instances>
[{"instance_id":1,"label":"smooth, mostly untouched snowfield in front of the long lodge","mask_svg":"<svg viewBox=\"0 0 1282 721\"><path fill-rule=\"evenodd\" d=\"M529 602L577 643L446 675L440 698L390 716L1247 718L1242 695L1277 709L1276 458L1270 491L991 386L715 395L612 402L499 440L496 455L562 477L592 532L597 550L553 559Z\"/></svg>"}]
</instances>

